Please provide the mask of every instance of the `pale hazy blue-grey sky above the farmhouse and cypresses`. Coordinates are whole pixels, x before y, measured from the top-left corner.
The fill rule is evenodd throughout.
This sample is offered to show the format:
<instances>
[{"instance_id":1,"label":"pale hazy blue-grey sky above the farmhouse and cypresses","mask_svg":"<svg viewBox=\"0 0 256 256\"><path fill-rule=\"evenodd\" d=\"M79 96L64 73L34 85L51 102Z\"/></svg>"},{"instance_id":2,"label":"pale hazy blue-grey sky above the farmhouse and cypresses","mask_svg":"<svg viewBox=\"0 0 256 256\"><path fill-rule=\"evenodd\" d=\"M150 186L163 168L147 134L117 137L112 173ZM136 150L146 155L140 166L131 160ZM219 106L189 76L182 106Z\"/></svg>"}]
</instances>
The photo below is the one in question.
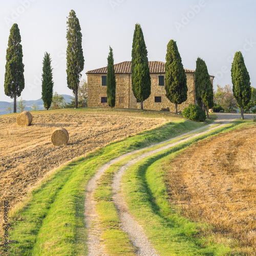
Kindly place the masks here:
<instances>
[{"instance_id":1,"label":"pale hazy blue-grey sky above the farmhouse and cypresses","mask_svg":"<svg viewBox=\"0 0 256 256\"><path fill-rule=\"evenodd\" d=\"M10 29L18 24L25 64L22 98L41 97L44 53L52 58L54 91L72 95L67 87L66 29L71 10L76 12L82 32L84 70L105 67L109 46L114 61L131 60L135 24L142 27L148 60L165 61L170 39L177 46L186 69L196 69L205 60L214 88L231 84L234 53L242 51L256 88L255 0L9 0L0 9L0 101L13 101L4 92L6 49ZM19 100L20 98L18 98Z\"/></svg>"}]
</instances>

